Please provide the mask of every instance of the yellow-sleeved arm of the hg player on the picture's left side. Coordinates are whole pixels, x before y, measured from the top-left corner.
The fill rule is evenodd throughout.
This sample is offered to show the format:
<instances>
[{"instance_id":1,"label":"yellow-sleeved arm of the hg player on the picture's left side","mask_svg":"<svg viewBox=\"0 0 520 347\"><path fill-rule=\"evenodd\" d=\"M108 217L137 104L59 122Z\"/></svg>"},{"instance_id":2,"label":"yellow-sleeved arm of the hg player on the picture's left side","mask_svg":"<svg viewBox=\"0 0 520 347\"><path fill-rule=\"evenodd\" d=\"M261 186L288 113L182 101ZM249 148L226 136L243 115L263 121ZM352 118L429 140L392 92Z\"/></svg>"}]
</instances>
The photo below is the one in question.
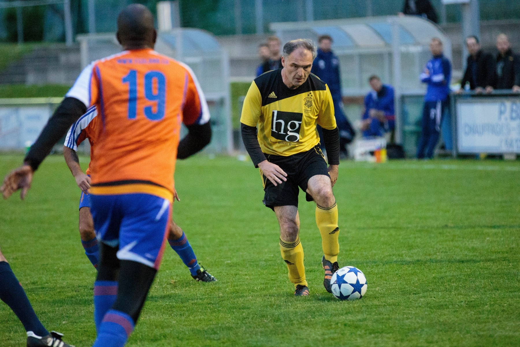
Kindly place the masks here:
<instances>
[{"instance_id":1,"label":"yellow-sleeved arm of the hg player on the picture's left side","mask_svg":"<svg viewBox=\"0 0 520 347\"><path fill-rule=\"evenodd\" d=\"M256 124L258 124L261 112L262 95L253 81L244 99L242 116L240 117L240 132L242 133L245 149L248 151L255 168L260 168L269 181L277 186L282 181L287 181L287 178L285 178L287 174L280 166L267 161L260 148L258 137L256 136Z\"/></svg>"}]
</instances>

